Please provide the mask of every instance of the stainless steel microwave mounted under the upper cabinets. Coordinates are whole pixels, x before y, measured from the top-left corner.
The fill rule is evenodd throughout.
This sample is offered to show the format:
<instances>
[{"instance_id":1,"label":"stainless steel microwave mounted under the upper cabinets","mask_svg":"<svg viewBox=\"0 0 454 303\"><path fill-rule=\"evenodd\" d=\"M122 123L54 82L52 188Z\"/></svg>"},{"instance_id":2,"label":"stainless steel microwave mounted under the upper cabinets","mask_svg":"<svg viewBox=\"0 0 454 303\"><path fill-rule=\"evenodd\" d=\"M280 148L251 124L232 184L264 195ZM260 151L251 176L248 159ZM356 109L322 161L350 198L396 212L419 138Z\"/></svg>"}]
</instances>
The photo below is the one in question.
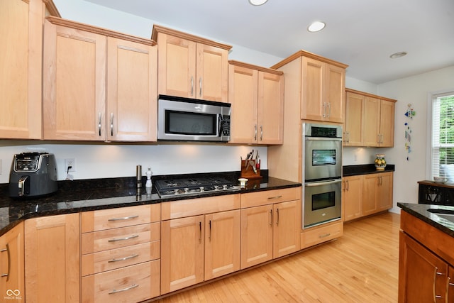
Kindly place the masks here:
<instances>
[{"instance_id":1,"label":"stainless steel microwave mounted under the upper cabinets","mask_svg":"<svg viewBox=\"0 0 454 303\"><path fill-rule=\"evenodd\" d=\"M228 103L160 95L157 140L228 142L230 115Z\"/></svg>"}]
</instances>

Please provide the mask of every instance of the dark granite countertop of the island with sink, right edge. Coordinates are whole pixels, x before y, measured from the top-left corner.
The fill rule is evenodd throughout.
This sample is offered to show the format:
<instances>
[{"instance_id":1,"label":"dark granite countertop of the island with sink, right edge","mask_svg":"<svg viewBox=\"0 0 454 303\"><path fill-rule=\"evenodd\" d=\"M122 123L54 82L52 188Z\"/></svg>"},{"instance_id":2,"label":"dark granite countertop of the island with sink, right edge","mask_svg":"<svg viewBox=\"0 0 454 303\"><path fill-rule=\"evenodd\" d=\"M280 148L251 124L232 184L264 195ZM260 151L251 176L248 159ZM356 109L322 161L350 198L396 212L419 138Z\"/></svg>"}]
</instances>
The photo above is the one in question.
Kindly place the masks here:
<instances>
[{"instance_id":1,"label":"dark granite countertop of the island with sink, right edge","mask_svg":"<svg viewBox=\"0 0 454 303\"><path fill-rule=\"evenodd\" d=\"M454 211L454 206L446 205L433 205L433 204L411 204L411 203L397 203L403 211L416 216L416 218L430 224L431 226L438 228L447 233L449 236L454 237L454 222L434 214L428 209L446 209L448 211ZM453 216L454 219L454 216Z\"/></svg>"}]
</instances>

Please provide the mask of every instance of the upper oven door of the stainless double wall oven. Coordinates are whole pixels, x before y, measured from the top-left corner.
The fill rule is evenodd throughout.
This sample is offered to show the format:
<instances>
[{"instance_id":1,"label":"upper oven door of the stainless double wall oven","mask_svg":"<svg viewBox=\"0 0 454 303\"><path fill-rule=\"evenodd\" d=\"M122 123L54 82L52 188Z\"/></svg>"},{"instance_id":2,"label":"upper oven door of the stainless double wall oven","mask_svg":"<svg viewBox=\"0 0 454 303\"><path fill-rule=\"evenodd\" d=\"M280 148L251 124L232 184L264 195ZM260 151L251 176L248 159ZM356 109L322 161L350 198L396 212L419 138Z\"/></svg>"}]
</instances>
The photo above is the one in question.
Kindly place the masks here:
<instances>
[{"instance_id":1,"label":"upper oven door of the stainless double wall oven","mask_svg":"<svg viewBox=\"0 0 454 303\"><path fill-rule=\"evenodd\" d=\"M341 138L304 138L304 180L327 180L342 175Z\"/></svg>"}]
</instances>

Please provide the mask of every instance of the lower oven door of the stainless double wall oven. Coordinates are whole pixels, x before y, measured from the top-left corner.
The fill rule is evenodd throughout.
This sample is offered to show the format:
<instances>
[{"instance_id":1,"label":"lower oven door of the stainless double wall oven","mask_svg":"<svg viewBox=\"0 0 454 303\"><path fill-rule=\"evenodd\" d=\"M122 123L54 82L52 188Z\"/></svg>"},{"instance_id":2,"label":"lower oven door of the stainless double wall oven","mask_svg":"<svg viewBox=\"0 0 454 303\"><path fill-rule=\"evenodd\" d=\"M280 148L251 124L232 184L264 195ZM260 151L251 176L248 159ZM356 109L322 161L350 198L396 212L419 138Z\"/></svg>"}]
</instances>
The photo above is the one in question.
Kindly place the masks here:
<instances>
[{"instance_id":1,"label":"lower oven door of the stainless double wall oven","mask_svg":"<svg viewBox=\"0 0 454 303\"><path fill-rule=\"evenodd\" d=\"M304 184L303 228L340 220L342 179Z\"/></svg>"}]
</instances>

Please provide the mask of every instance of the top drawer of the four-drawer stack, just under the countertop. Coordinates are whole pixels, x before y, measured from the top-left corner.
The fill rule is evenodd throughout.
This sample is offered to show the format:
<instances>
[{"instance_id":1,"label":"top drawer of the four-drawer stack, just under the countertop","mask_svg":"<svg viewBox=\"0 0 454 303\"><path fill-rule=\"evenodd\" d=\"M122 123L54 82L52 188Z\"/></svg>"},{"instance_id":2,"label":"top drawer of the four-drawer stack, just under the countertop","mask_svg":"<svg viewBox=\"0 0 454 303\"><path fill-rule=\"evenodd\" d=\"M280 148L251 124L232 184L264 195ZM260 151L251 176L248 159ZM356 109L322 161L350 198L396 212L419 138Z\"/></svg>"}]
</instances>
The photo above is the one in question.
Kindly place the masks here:
<instances>
[{"instance_id":1,"label":"top drawer of the four-drawer stack, just under the countertop","mask_svg":"<svg viewBox=\"0 0 454 303\"><path fill-rule=\"evenodd\" d=\"M82 233L160 221L160 204L82 212Z\"/></svg>"}]
</instances>

